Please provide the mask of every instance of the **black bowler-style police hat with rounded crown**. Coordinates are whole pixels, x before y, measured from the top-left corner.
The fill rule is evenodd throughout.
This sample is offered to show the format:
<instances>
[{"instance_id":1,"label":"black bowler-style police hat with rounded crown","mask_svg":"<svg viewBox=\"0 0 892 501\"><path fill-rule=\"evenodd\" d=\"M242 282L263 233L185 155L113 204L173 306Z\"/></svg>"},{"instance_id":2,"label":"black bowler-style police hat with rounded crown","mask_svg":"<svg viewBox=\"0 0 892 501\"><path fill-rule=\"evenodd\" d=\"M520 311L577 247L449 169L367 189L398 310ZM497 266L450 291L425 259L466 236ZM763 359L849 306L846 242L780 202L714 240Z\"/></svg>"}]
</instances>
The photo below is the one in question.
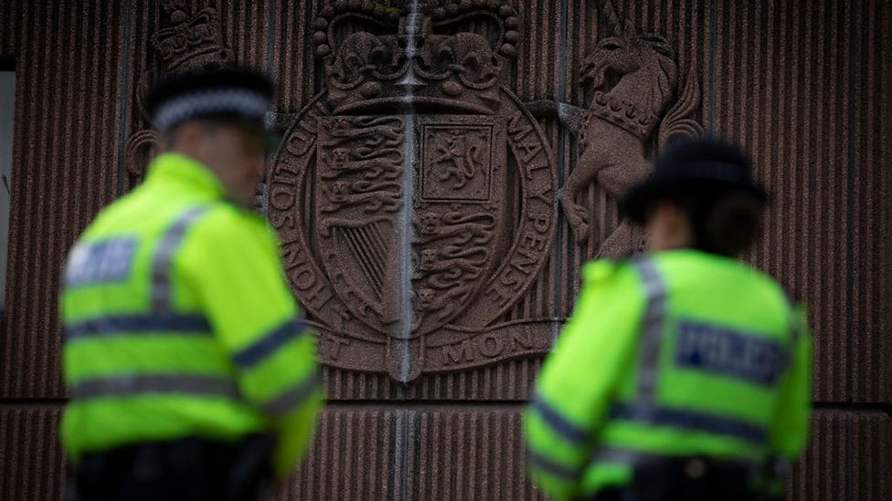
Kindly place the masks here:
<instances>
[{"instance_id":1,"label":"black bowler-style police hat with rounded crown","mask_svg":"<svg viewBox=\"0 0 892 501\"><path fill-rule=\"evenodd\" d=\"M633 221L643 223L646 205L662 197L749 193L764 202L768 195L752 180L751 170L747 154L727 141L679 141L657 157L653 176L632 188L622 206Z\"/></svg>"}]
</instances>

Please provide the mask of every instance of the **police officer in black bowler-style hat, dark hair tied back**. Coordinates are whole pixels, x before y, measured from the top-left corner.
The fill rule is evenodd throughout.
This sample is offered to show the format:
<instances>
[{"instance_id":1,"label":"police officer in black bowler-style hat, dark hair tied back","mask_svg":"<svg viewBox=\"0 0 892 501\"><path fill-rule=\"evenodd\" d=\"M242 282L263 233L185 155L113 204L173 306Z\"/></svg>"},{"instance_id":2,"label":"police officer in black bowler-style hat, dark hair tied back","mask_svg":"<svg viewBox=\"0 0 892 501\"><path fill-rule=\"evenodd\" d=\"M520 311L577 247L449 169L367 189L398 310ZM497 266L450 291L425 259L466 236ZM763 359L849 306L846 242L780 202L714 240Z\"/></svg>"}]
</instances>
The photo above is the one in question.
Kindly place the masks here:
<instances>
[{"instance_id":1,"label":"police officer in black bowler-style hat, dark hair tied back","mask_svg":"<svg viewBox=\"0 0 892 501\"><path fill-rule=\"evenodd\" d=\"M747 156L681 142L624 201L649 253L583 268L576 310L524 420L528 468L556 499L781 496L802 452L811 341L802 309L735 256L766 199Z\"/></svg>"}]
</instances>

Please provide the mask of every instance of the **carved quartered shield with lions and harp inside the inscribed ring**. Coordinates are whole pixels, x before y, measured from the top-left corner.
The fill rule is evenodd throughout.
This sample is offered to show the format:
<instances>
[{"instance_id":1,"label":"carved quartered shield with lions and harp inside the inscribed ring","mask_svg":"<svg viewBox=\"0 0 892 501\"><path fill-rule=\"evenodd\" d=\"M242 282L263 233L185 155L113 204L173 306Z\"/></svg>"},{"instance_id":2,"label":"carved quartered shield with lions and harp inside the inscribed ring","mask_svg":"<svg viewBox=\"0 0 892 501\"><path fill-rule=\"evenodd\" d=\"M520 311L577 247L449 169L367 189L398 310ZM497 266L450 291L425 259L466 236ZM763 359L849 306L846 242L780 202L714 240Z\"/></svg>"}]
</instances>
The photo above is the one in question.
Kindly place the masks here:
<instances>
[{"instance_id":1,"label":"carved quartered shield with lions and harp inside the inscribed ring","mask_svg":"<svg viewBox=\"0 0 892 501\"><path fill-rule=\"evenodd\" d=\"M320 255L336 293L367 328L422 336L477 294L504 224L505 148L498 117L319 120ZM400 224L404 215L410 221Z\"/></svg>"}]
</instances>

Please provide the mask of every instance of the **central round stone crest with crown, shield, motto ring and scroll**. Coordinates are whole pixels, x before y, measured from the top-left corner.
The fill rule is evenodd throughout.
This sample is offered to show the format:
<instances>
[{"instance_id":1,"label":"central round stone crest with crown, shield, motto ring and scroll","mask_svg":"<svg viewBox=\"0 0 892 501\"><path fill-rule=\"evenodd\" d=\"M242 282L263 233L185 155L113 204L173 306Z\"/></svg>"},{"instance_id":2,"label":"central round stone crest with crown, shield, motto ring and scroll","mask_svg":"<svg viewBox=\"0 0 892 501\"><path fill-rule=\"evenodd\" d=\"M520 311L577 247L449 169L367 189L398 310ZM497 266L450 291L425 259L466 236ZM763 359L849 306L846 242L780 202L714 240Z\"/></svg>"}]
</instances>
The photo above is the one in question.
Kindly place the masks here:
<instances>
[{"instance_id":1,"label":"central round stone crest with crown, shield, motto ring and scroll","mask_svg":"<svg viewBox=\"0 0 892 501\"><path fill-rule=\"evenodd\" d=\"M267 215L322 361L395 381L545 353L551 319L504 322L551 252L557 169L503 85L503 2L315 20L324 90L288 124Z\"/></svg>"}]
</instances>

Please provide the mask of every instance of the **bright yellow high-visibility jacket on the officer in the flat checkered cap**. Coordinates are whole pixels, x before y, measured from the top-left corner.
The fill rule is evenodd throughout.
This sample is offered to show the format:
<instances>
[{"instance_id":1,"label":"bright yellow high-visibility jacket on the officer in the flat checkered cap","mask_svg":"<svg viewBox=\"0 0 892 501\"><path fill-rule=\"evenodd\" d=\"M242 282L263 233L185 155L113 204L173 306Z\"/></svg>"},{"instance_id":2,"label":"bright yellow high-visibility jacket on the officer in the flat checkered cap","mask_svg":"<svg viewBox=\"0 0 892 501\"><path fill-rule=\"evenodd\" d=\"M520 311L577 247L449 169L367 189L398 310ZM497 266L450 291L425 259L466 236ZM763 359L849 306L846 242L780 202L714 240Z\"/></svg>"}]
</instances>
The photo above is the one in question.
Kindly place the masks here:
<instances>
[{"instance_id":1,"label":"bright yellow high-visibility jacket on the officer in the flat checkered cap","mask_svg":"<svg viewBox=\"0 0 892 501\"><path fill-rule=\"evenodd\" d=\"M84 452L186 436L279 437L287 475L322 402L313 336L277 239L217 177L165 153L90 224L64 277L61 425Z\"/></svg>"}]
</instances>

